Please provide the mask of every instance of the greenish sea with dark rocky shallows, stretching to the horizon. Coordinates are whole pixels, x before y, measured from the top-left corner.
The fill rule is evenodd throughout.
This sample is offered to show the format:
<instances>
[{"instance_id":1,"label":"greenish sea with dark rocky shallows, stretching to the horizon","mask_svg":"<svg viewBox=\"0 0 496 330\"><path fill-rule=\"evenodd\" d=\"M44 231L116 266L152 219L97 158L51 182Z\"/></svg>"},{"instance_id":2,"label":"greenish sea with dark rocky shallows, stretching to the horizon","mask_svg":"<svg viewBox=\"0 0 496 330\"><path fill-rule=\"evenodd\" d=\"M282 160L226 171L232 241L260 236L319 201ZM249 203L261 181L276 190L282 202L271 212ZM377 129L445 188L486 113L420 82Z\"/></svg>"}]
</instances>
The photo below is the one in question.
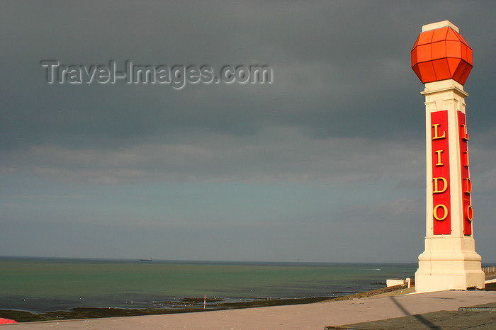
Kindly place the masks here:
<instances>
[{"instance_id":1,"label":"greenish sea with dark rocky shallows, stretching to the horizon","mask_svg":"<svg viewBox=\"0 0 496 330\"><path fill-rule=\"evenodd\" d=\"M38 314L80 307L181 312L267 300L278 305L384 288L387 278L414 278L416 270L416 263L0 257L0 309Z\"/></svg>"}]
</instances>

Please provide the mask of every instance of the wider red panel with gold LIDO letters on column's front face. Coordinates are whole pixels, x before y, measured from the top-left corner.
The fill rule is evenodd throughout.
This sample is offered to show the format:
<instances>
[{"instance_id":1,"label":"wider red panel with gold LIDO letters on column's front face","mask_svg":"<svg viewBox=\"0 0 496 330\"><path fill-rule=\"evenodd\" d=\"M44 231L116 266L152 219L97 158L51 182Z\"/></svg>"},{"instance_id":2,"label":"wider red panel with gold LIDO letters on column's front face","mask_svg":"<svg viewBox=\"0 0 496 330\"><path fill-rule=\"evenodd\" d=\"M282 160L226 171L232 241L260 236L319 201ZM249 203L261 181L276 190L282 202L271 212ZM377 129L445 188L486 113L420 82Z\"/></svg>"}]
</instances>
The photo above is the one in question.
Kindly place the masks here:
<instances>
[{"instance_id":1,"label":"wider red panel with gold LIDO letters on column's front face","mask_svg":"<svg viewBox=\"0 0 496 330\"><path fill-rule=\"evenodd\" d=\"M434 235L451 234L448 110L431 113ZM446 184L445 184L446 183Z\"/></svg>"}]
</instances>

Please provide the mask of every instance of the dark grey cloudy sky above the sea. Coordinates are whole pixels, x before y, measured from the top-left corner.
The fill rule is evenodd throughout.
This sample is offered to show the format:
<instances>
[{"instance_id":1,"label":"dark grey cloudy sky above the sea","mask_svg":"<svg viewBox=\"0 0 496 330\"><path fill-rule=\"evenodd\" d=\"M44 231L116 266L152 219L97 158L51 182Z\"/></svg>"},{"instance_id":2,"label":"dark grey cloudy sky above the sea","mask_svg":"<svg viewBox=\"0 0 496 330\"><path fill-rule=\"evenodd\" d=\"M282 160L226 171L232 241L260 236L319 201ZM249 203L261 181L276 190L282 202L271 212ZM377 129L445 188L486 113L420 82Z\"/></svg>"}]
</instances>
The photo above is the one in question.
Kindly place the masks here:
<instances>
[{"instance_id":1,"label":"dark grey cloudy sky above the sea","mask_svg":"<svg viewBox=\"0 0 496 330\"><path fill-rule=\"evenodd\" d=\"M496 262L491 1L1 1L0 255L416 262L422 25L473 48L476 251ZM266 65L271 84L48 84L40 61Z\"/></svg>"}]
</instances>

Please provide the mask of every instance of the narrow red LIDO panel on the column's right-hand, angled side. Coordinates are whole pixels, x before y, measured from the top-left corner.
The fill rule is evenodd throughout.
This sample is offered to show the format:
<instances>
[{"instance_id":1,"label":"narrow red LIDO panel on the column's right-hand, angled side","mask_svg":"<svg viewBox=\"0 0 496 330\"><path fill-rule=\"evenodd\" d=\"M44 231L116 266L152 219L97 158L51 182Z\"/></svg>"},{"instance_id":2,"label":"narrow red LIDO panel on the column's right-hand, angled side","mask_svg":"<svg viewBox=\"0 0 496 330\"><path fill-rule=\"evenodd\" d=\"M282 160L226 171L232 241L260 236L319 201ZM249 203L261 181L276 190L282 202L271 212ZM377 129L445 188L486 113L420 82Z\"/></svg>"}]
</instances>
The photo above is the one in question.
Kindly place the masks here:
<instances>
[{"instance_id":1,"label":"narrow red LIDO panel on the column's right-hand, angled side","mask_svg":"<svg viewBox=\"0 0 496 330\"><path fill-rule=\"evenodd\" d=\"M461 111L458 113L458 136L460 140L460 164L461 164L461 187L462 187L462 203L463 203L463 234L472 234L472 217L473 210L470 205L470 192L472 186L470 183L470 173L468 171L468 135L466 135L466 120L465 114ZM464 137L467 137L466 139ZM468 180L467 180L468 179ZM470 214L472 213L472 214Z\"/></svg>"}]
</instances>

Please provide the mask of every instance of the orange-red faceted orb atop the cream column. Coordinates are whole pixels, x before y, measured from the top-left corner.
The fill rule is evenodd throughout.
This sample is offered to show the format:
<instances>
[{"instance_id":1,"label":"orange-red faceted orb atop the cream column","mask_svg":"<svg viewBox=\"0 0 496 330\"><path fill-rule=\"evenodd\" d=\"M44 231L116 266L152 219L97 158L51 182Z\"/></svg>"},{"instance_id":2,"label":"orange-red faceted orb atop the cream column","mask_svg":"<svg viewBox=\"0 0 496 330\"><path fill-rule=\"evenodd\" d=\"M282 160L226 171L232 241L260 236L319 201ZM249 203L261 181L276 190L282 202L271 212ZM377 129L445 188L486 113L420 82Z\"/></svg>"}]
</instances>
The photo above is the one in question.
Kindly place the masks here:
<instances>
[{"instance_id":1,"label":"orange-red faceted orb atop the cream column","mask_svg":"<svg viewBox=\"0 0 496 330\"><path fill-rule=\"evenodd\" d=\"M472 67L472 48L450 26L420 33L412 49L412 69L422 84L453 79L463 85Z\"/></svg>"}]
</instances>

